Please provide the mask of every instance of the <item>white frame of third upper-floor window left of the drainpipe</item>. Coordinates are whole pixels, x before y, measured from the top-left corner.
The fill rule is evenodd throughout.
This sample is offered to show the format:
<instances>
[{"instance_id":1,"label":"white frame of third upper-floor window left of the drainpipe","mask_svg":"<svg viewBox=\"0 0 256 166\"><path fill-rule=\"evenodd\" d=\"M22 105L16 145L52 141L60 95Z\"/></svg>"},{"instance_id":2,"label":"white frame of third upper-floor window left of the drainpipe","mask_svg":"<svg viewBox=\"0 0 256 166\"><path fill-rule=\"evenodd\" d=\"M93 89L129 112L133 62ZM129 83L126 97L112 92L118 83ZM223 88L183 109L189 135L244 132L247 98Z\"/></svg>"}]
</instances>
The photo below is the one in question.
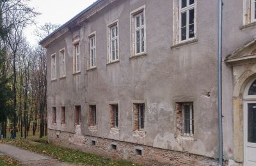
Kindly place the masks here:
<instances>
[{"instance_id":1,"label":"white frame of third upper-floor window left of the drainpipe","mask_svg":"<svg viewBox=\"0 0 256 166\"><path fill-rule=\"evenodd\" d=\"M119 27L118 27L118 20L115 20L111 24L108 24L108 63L112 63L119 60ZM112 29L115 28L115 36L113 37ZM117 29L117 34L116 34ZM113 43L115 41L115 55L113 59Z\"/></svg>"}]
</instances>

